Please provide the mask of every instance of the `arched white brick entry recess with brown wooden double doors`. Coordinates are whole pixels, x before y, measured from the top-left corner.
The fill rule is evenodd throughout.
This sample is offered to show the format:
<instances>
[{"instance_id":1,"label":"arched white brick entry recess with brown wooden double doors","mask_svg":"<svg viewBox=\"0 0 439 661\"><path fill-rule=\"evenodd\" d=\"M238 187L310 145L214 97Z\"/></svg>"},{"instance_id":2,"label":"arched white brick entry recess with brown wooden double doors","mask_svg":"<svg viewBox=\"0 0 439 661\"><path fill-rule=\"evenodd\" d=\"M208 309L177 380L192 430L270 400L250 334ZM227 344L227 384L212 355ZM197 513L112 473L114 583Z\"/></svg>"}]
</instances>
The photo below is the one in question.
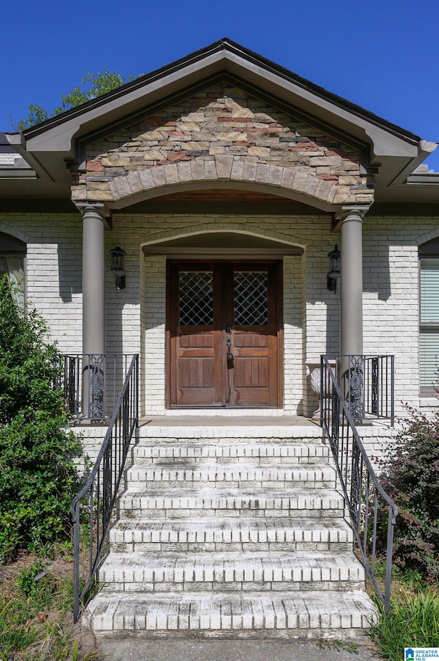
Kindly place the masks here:
<instances>
[{"instance_id":1,"label":"arched white brick entry recess with brown wooden double doors","mask_svg":"<svg viewBox=\"0 0 439 661\"><path fill-rule=\"evenodd\" d=\"M194 224L143 243L145 391L151 398L155 383L155 410L297 413L304 246L274 230L227 225Z\"/></svg>"}]
</instances>

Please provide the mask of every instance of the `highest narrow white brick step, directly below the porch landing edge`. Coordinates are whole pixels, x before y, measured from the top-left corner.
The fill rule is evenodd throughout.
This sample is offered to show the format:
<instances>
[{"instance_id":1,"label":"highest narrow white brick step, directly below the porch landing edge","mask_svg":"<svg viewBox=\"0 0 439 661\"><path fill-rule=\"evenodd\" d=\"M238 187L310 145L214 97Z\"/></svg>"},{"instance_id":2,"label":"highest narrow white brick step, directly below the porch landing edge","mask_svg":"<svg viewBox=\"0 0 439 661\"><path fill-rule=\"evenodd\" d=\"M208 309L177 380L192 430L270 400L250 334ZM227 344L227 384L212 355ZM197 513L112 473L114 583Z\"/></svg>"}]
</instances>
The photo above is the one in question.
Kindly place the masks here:
<instances>
[{"instance_id":1,"label":"highest narrow white brick step, directly below the porch landing edge","mask_svg":"<svg viewBox=\"0 0 439 661\"><path fill-rule=\"evenodd\" d=\"M259 442L236 443L235 439L230 443L200 443L178 442L172 439L172 443L159 444L139 443L134 446L133 456L137 465L197 465L204 463L282 463L282 464L313 464L322 463L329 458L330 450L328 445L312 443L266 443L261 439Z\"/></svg>"}]
</instances>

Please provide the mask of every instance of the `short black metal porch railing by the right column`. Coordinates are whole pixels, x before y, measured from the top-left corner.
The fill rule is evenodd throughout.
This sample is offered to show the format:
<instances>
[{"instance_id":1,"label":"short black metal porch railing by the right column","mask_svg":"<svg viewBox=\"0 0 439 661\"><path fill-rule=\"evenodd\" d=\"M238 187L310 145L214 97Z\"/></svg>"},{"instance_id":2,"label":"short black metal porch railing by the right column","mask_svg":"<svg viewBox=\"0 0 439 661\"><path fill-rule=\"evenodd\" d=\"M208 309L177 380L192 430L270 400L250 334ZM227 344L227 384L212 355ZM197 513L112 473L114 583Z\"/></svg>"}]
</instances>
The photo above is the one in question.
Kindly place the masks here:
<instances>
[{"instance_id":1,"label":"short black metal porch railing by the right column","mask_svg":"<svg viewBox=\"0 0 439 661\"><path fill-rule=\"evenodd\" d=\"M394 425L394 356L337 356L337 377L354 420Z\"/></svg>"}]
</instances>

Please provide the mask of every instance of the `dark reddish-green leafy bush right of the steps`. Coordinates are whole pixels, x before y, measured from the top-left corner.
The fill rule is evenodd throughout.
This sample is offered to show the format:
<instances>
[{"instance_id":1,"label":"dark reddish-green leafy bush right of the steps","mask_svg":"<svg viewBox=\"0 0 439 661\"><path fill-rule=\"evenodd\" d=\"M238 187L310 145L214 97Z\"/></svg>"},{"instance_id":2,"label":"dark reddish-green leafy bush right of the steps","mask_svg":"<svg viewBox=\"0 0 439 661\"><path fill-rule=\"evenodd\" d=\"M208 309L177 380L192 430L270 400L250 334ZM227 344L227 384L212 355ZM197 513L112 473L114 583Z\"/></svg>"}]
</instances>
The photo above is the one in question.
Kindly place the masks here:
<instances>
[{"instance_id":1,"label":"dark reddish-green leafy bush right of the steps","mask_svg":"<svg viewBox=\"0 0 439 661\"><path fill-rule=\"evenodd\" d=\"M401 432L381 461L381 483L399 508L394 561L438 581L439 407L428 416L408 406L407 411Z\"/></svg>"}]
</instances>

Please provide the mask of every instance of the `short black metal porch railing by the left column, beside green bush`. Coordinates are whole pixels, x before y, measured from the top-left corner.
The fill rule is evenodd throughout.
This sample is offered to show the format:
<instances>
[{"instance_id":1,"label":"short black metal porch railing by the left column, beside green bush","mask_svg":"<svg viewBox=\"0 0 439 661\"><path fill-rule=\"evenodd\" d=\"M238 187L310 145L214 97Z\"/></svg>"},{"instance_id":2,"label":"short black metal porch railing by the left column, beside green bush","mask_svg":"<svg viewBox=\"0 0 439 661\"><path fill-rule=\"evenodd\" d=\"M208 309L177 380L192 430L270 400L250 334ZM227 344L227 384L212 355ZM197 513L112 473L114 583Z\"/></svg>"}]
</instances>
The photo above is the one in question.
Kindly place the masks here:
<instances>
[{"instance_id":1,"label":"short black metal porch railing by the left column, beside green bush","mask_svg":"<svg viewBox=\"0 0 439 661\"><path fill-rule=\"evenodd\" d=\"M131 357L124 353L60 356L56 387L64 392L66 409L73 421L108 421Z\"/></svg>"}]
</instances>

